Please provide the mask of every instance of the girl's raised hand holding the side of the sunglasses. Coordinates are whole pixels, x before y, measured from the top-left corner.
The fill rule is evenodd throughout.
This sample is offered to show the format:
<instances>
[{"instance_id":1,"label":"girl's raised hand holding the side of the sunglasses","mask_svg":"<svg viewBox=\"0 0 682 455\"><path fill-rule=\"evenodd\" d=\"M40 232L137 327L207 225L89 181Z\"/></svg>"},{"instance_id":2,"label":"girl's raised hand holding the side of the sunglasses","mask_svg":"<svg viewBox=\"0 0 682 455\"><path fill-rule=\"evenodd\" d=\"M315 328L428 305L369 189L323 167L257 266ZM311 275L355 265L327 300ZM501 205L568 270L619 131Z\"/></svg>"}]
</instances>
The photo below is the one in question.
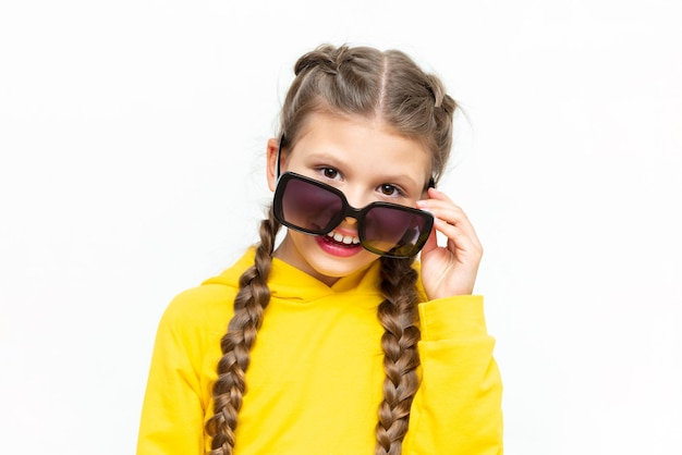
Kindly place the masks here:
<instances>
[{"instance_id":1,"label":"girl's raised hand holding the side of the sunglasses","mask_svg":"<svg viewBox=\"0 0 682 455\"><path fill-rule=\"evenodd\" d=\"M434 216L434 230L422 249L422 283L429 299L472 294L483 246L464 211L443 193L428 189L430 199L417 208ZM448 237L438 246L436 231Z\"/></svg>"}]
</instances>

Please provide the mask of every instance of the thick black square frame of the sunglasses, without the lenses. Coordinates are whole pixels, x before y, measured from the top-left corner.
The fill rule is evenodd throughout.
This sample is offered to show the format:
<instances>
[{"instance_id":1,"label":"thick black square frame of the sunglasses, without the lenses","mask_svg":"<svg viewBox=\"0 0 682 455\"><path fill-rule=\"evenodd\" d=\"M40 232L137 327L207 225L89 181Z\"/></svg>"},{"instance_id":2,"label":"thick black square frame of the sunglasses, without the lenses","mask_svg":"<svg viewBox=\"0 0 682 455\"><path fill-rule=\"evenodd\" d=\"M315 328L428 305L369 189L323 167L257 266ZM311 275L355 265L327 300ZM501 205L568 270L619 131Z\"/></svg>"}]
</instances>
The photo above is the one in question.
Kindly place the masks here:
<instances>
[{"instance_id":1,"label":"thick black square frame of the sunglasses, without the lenses","mask_svg":"<svg viewBox=\"0 0 682 455\"><path fill-rule=\"evenodd\" d=\"M302 181L309 185L317 186L318 188L321 188L339 197L339 199L341 200L341 205L342 205L341 210L339 210L339 212L333 216L333 218L327 223L326 226L319 230L310 230L310 229L306 229L306 228L302 228L300 225L293 224L284 218L284 212L283 212L284 194L285 194L287 184L292 180ZM360 238L360 243L363 246L363 248L376 255L380 255L380 256L385 256L389 258L410 258L410 257L415 256L424 247L424 244L426 243L426 239L430 235L431 229L434 226L434 217L430 213L424 210L412 208L412 207L401 206L399 204L376 201L376 202L369 204L368 206L362 209L356 209L349 204L348 199L345 198L345 195L340 189L334 188L333 186L329 186L314 179L309 179L309 177L306 177L304 175L300 175L293 172L285 172L279 176L277 181L277 188L275 190L275 199L273 199L272 208L275 212L275 218L282 225L285 225L287 228L293 229L299 232L303 232L305 234L312 234L312 235L329 234L331 231L333 231L334 228L341 224L341 222L345 218L348 217L354 218L357 220L357 228L358 228L357 236ZM372 209L375 209L375 208L387 208L391 210L403 211L403 212L411 213L411 214L422 218L424 220L424 226L421 230L419 236L417 237L417 241L414 243L414 245L411 245L411 246L410 245L397 245L395 247L391 248L388 251L380 250L380 249L373 247L372 244L364 238L364 235L365 235L365 218L367 213Z\"/></svg>"}]
</instances>

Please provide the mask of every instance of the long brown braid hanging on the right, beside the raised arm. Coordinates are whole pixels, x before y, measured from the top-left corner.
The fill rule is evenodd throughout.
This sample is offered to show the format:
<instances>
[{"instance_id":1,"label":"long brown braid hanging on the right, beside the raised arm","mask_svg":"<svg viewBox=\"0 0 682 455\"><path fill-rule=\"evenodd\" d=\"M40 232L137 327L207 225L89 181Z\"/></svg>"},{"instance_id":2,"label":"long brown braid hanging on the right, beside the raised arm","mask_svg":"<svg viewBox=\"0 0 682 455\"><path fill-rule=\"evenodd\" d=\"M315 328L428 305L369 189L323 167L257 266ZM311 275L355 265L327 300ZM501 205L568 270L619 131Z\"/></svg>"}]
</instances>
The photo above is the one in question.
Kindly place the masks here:
<instances>
[{"instance_id":1,"label":"long brown braid hanging on the right, beside the raised arm","mask_svg":"<svg viewBox=\"0 0 682 455\"><path fill-rule=\"evenodd\" d=\"M410 422L410 406L418 388L419 365L416 327L417 272L412 259L381 258L381 291L386 299L379 305L379 320L386 329L383 348L383 402L379 406L376 428L376 455L399 455Z\"/></svg>"}]
</instances>

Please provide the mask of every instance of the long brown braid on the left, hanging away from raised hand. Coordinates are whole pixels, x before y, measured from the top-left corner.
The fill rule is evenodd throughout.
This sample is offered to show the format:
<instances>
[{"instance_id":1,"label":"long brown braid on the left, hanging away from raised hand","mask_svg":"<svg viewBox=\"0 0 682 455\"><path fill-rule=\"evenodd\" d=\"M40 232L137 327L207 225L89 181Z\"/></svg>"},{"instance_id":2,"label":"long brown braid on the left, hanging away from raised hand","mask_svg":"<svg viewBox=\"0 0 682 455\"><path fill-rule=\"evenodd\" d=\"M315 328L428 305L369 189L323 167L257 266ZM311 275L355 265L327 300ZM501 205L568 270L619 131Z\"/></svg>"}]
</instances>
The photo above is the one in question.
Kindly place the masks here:
<instances>
[{"instance_id":1,"label":"long brown braid on the left, hanging away from raised hand","mask_svg":"<svg viewBox=\"0 0 682 455\"><path fill-rule=\"evenodd\" d=\"M260 223L255 263L240 278L234 316L220 345L222 358L218 362L218 380L214 384L214 416L206 422L206 431L212 438L210 455L231 455L234 447L236 417L246 393L245 372L251 361L249 352L270 300L267 280L279 228L270 208L268 219Z\"/></svg>"}]
</instances>

